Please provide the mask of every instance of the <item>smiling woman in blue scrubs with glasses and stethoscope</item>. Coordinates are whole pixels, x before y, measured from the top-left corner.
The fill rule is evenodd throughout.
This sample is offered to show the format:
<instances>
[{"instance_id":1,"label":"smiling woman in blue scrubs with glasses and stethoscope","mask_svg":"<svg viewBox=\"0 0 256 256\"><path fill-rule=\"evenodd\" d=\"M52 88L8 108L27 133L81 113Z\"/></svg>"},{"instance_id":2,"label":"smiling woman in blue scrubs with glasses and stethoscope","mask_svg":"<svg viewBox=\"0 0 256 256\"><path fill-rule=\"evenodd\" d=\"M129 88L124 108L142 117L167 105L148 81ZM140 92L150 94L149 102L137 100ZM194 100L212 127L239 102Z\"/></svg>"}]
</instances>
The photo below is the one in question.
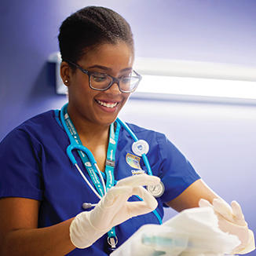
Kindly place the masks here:
<instances>
[{"instance_id":1,"label":"smiling woman in blue scrubs with glasses and stethoscope","mask_svg":"<svg viewBox=\"0 0 256 256\"><path fill-rule=\"evenodd\" d=\"M141 79L122 16L81 9L61 24L59 42L68 106L27 120L0 145L1 255L106 255L141 225L159 223L163 204L180 211L218 198L163 134L129 125L152 168L153 175L143 174L148 170L130 133L115 121ZM106 176L105 196L97 182L93 193L68 158L68 133L93 153ZM72 153L90 180L92 163ZM159 178L165 189L155 199L143 186L161 192ZM97 206L87 209L88 203Z\"/></svg>"}]
</instances>

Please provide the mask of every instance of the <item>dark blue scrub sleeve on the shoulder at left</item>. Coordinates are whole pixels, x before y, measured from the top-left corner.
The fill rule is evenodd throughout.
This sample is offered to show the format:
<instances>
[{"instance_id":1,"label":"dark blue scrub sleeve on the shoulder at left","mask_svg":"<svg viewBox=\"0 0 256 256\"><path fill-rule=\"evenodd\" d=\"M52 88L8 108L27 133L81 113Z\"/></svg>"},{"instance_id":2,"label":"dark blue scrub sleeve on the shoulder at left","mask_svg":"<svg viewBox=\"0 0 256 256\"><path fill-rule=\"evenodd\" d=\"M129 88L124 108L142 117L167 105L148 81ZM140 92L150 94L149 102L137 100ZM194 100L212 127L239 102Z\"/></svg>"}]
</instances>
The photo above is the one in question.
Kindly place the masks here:
<instances>
[{"instance_id":1,"label":"dark blue scrub sleeve on the shoulder at left","mask_svg":"<svg viewBox=\"0 0 256 256\"><path fill-rule=\"evenodd\" d=\"M25 130L13 130L0 143L0 198L42 199L42 147Z\"/></svg>"}]
</instances>

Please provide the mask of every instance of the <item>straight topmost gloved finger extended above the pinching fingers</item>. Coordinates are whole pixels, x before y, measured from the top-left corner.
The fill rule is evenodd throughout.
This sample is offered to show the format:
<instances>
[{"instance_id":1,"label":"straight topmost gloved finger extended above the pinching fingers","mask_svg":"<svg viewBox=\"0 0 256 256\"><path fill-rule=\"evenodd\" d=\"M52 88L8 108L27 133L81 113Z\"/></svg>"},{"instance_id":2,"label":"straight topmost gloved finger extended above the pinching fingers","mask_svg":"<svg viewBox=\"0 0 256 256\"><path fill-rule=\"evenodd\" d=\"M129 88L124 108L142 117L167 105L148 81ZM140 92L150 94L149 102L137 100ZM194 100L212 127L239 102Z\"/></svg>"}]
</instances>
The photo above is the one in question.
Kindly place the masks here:
<instances>
[{"instance_id":1,"label":"straight topmost gloved finger extended above the pinching fingers","mask_svg":"<svg viewBox=\"0 0 256 256\"><path fill-rule=\"evenodd\" d=\"M115 186L146 186L146 185L158 185L160 178L148 174L138 174L130 177L125 177L122 180L118 181Z\"/></svg>"}]
</instances>

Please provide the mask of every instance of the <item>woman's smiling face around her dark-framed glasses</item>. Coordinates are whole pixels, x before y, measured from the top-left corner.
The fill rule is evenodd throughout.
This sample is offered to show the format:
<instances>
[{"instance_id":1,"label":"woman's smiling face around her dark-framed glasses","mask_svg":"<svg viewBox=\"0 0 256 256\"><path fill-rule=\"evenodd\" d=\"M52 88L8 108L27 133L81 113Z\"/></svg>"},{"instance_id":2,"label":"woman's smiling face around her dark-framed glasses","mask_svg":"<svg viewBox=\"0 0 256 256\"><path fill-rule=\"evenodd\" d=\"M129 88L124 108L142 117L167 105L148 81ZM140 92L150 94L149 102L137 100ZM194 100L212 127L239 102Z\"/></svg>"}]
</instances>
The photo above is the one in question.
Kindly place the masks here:
<instances>
[{"instance_id":1,"label":"woman's smiling face around her dark-framed glasses","mask_svg":"<svg viewBox=\"0 0 256 256\"><path fill-rule=\"evenodd\" d=\"M103 44L86 53L77 64L88 71L120 78L132 70L133 51L125 42ZM106 126L113 123L130 93L121 93L116 83L105 91L93 90L89 86L88 75L78 68L69 76L68 108L73 115L75 113L76 118L90 123Z\"/></svg>"}]
</instances>

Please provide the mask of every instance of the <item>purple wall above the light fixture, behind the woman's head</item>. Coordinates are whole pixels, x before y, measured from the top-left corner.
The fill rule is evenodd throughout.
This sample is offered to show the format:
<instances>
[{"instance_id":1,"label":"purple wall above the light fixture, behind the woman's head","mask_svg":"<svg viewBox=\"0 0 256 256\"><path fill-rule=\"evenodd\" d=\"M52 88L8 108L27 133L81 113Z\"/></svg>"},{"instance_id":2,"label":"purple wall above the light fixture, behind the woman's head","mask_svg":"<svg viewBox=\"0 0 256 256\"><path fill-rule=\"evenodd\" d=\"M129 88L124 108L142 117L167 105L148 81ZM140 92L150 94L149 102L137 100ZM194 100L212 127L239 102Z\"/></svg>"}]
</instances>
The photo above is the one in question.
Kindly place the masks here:
<instances>
[{"instance_id":1,"label":"purple wall above the light fixture, behind the woman's head","mask_svg":"<svg viewBox=\"0 0 256 256\"><path fill-rule=\"evenodd\" d=\"M59 106L46 73L58 50L65 16L84 1L4 1L1 3L0 138L18 123ZM86 5L106 5L86 1ZM248 1L108 1L133 27L137 56L256 64L256 3Z\"/></svg>"}]
</instances>

